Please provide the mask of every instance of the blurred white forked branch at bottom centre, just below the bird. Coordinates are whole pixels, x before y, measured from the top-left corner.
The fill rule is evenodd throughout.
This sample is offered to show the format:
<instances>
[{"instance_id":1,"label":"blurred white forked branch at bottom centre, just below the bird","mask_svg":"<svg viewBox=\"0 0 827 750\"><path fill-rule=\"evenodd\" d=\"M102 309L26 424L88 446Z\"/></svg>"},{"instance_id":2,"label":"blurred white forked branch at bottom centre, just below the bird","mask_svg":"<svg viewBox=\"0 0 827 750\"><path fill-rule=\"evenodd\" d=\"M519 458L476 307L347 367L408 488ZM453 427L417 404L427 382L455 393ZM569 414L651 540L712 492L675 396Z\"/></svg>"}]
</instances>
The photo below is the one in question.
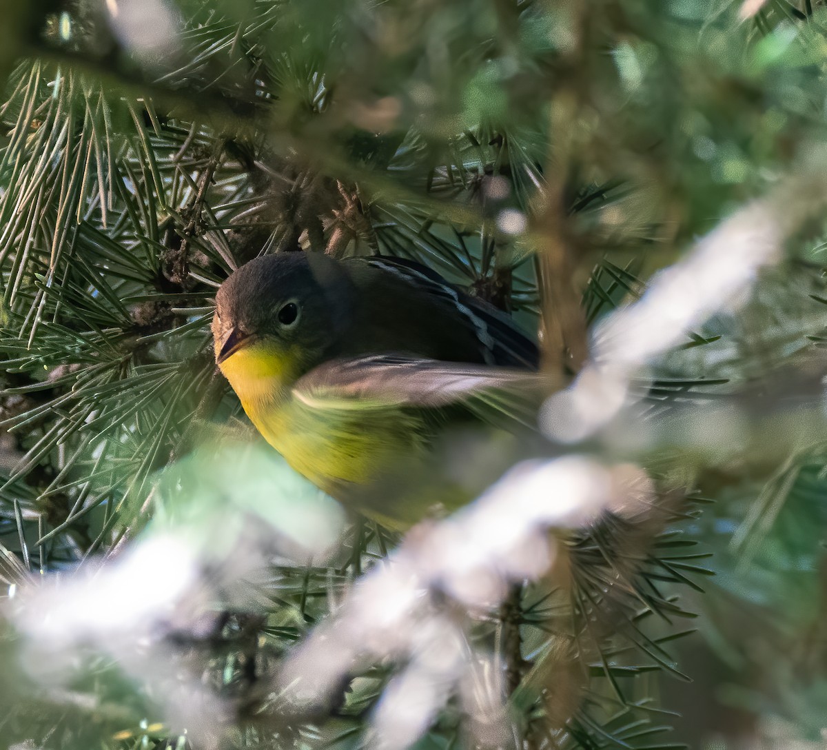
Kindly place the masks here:
<instances>
[{"instance_id":1,"label":"blurred white forked branch at bottom centre, just below the bird","mask_svg":"<svg viewBox=\"0 0 827 750\"><path fill-rule=\"evenodd\" d=\"M408 747L485 658L463 657L460 622L447 619L430 597L447 594L463 609L491 611L509 585L537 579L552 566L550 528L582 527L606 509L633 513L652 497L647 475L629 464L566 456L514 467L476 503L409 533L390 564L365 576L292 654L280 690L292 696L299 712L312 714L329 704L354 671L387 658L407 662L376 709L373 739L377 748ZM502 701L503 690L499 694ZM504 715L502 703L463 708L471 716ZM505 724L494 725L499 733L477 738L480 743L503 743Z\"/></svg>"}]
</instances>

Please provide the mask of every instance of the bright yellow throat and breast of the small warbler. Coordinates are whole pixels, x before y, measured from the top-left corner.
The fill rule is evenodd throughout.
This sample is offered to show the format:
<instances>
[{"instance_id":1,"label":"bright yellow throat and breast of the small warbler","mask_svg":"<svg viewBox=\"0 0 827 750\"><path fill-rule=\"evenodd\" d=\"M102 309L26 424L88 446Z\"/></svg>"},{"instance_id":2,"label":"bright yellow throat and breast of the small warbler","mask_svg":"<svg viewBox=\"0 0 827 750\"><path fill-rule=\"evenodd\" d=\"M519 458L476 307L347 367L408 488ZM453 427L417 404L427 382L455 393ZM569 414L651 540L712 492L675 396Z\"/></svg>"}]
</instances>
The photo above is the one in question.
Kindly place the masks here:
<instances>
[{"instance_id":1,"label":"bright yellow throat and breast of the small warbler","mask_svg":"<svg viewBox=\"0 0 827 750\"><path fill-rule=\"evenodd\" d=\"M220 366L262 437L321 490L399 531L476 494L433 463L433 436L415 410L310 405L292 394L289 361L255 342Z\"/></svg>"}]
</instances>

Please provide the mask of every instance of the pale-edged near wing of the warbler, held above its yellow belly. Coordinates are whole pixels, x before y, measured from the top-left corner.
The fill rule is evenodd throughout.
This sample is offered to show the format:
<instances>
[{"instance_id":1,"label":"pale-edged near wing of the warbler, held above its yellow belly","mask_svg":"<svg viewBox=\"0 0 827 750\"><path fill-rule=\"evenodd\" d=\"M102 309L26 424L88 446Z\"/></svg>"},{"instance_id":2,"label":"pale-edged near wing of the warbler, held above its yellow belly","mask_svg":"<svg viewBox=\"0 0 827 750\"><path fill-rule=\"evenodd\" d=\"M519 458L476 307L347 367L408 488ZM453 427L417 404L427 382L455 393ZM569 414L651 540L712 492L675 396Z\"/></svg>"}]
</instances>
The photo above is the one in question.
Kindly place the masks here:
<instances>
[{"instance_id":1,"label":"pale-edged near wing of the warbler, held above its yellow belly","mask_svg":"<svg viewBox=\"0 0 827 750\"><path fill-rule=\"evenodd\" d=\"M325 362L296 381L294 399L327 412L461 408L512 430L537 429L542 376L526 370L377 355Z\"/></svg>"}]
</instances>

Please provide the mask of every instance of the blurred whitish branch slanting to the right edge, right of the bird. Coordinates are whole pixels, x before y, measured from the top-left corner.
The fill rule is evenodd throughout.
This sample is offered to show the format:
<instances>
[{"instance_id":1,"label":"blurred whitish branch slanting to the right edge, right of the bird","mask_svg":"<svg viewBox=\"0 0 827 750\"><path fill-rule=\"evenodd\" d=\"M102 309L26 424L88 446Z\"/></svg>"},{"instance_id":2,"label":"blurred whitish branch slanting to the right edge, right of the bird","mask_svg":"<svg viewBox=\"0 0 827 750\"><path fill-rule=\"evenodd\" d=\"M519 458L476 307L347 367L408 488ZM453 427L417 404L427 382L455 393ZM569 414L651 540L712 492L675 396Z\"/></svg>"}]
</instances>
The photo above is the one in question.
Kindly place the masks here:
<instances>
[{"instance_id":1,"label":"blurred whitish branch slanting to the right edge, right of the bird","mask_svg":"<svg viewBox=\"0 0 827 750\"><path fill-rule=\"evenodd\" d=\"M571 386L547 399L548 437L578 442L628 405L632 379L714 313L743 306L758 276L783 257L783 243L827 203L827 155L810 155L800 173L753 201L658 273L638 301L595 328L589 361Z\"/></svg>"}]
</instances>

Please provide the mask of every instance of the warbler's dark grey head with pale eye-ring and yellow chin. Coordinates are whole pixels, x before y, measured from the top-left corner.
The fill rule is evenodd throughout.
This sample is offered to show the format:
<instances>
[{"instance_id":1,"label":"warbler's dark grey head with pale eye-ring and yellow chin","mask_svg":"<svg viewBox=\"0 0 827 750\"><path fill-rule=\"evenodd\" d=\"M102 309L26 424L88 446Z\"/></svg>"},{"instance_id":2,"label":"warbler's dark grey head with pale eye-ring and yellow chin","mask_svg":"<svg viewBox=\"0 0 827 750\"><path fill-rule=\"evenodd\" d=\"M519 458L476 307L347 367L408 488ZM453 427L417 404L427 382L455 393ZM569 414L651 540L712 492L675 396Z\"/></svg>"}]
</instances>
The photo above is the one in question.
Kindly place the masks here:
<instances>
[{"instance_id":1,"label":"warbler's dark grey head with pale eye-ring and yellow chin","mask_svg":"<svg viewBox=\"0 0 827 750\"><path fill-rule=\"evenodd\" d=\"M216 294L215 359L237 392L262 380L287 385L335 351L351 317L351 284L318 253L262 256Z\"/></svg>"}]
</instances>

